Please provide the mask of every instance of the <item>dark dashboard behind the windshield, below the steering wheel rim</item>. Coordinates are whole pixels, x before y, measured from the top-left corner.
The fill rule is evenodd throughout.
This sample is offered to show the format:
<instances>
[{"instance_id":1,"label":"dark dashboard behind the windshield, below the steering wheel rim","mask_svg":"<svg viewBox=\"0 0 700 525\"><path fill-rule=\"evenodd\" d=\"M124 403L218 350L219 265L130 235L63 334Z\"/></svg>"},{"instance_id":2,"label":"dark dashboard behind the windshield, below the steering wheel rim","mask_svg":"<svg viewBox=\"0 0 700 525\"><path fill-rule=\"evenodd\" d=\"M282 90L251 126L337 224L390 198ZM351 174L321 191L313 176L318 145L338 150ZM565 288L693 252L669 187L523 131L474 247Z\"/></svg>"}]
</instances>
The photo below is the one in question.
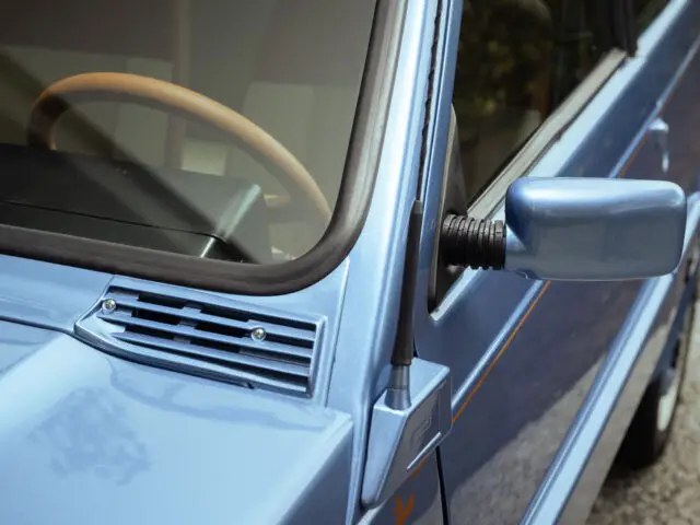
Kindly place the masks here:
<instances>
[{"instance_id":1,"label":"dark dashboard behind the windshield, below the steering wheel rim","mask_svg":"<svg viewBox=\"0 0 700 525\"><path fill-rule=\"evenodd\" d=\"M0 223L269 264L262 189L231 176L0 144Z\"/></svg>"}]
</instances>

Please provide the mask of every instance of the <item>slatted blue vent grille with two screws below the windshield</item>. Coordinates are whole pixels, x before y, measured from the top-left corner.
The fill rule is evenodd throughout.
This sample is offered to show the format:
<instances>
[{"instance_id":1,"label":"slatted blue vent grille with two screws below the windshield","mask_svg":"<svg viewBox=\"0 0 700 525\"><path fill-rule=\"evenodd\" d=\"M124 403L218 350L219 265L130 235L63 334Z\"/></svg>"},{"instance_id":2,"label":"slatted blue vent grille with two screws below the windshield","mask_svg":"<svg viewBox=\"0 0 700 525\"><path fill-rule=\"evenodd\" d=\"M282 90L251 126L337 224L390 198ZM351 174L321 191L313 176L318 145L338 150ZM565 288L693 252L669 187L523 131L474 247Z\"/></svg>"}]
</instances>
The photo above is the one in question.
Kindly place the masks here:
<instances>
[{"instance_id":1,"label":"slatted blue vent grille with two screws below the windshield","mask_svg":"<svg viewBox=\"0 0 700 525\"><path fill-rule=\"evenodd\" d=\"M311 394L318 327L213 303L113 287L77 325L103 350L248 387Z\"/></svg>"}]
</instances>

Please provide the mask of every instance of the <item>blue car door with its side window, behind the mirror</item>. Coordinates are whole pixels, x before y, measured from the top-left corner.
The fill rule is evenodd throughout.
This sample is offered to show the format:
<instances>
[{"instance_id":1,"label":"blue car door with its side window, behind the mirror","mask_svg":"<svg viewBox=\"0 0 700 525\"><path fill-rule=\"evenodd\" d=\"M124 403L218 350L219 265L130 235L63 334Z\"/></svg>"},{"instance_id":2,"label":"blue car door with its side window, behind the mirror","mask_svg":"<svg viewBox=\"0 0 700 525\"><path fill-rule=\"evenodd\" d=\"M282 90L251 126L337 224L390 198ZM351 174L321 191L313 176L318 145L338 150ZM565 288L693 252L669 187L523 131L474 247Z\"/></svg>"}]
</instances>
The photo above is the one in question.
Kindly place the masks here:
<instances>
[{"instance_id":1,"label":"blue car door with its side window, behind the mirror","mask_svg":"<svg viewBox=\"0 0 700 525\"><path fill-rule=\"evenodd\" d=\"M676 122L660 112L695 52L699 18L690 1L444 4L432 106L438 153L425 184L429 301L417 314L416 343L453 374L453 429L438 454L451 523L534 515L649 282L447 268L440 218L502 219L504 192L521 176L675 177ZM670 308L651 314L662 319Z\"/></svg>"}]
</instances>

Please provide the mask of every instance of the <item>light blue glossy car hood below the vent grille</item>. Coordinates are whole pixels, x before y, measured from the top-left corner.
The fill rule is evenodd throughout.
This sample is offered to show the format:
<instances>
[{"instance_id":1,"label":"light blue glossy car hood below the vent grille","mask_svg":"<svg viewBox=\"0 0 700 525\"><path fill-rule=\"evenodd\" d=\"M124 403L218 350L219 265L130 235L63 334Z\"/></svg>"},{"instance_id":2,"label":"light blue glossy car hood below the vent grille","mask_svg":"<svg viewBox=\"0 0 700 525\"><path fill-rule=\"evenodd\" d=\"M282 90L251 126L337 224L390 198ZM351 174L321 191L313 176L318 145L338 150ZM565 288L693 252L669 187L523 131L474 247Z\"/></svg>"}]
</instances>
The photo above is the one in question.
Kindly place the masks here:
<instances>
[{"instance_id":1,"label":"light blue glossy car hood below the vent grille","mask_svg":"<svg viewBox=\"0 0 700 525\"><path fill-rule=\"evenodd\" d=\"M345 514L347 415L124 361L67 334L0 322L0 523L301 523L319 504Z\"/></svg>"}]
</instances>

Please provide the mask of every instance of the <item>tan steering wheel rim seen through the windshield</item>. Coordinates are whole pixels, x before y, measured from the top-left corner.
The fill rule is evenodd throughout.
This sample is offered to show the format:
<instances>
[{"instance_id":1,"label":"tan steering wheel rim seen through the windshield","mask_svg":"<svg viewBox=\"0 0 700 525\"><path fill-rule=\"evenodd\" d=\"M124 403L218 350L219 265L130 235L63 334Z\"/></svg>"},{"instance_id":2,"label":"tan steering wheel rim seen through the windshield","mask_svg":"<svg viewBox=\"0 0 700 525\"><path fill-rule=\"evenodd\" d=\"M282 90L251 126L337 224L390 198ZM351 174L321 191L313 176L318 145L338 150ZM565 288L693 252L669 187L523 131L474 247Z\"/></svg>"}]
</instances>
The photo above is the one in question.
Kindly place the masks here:
<instances>
[{"instance_id":1,"label":"tan steering wheel rim seen through the windshield","mask_svg":"<svg viewBox=\"0 0 700 525\"><path fill-rule=\"evenodd\" d=\"M131 102L176 113L212 126L242 142L248 153L272 167L270 172L292 198L302 198L325 225L331 210L314 177L272 136L240 113L208 96L163 80L131 73L93 72L61 79L34 102L27 126L27 143L56 149L56 124L73 105L85 102ZM275 170L276 168L276 170Z\"/></svg>"}]
</instances>

